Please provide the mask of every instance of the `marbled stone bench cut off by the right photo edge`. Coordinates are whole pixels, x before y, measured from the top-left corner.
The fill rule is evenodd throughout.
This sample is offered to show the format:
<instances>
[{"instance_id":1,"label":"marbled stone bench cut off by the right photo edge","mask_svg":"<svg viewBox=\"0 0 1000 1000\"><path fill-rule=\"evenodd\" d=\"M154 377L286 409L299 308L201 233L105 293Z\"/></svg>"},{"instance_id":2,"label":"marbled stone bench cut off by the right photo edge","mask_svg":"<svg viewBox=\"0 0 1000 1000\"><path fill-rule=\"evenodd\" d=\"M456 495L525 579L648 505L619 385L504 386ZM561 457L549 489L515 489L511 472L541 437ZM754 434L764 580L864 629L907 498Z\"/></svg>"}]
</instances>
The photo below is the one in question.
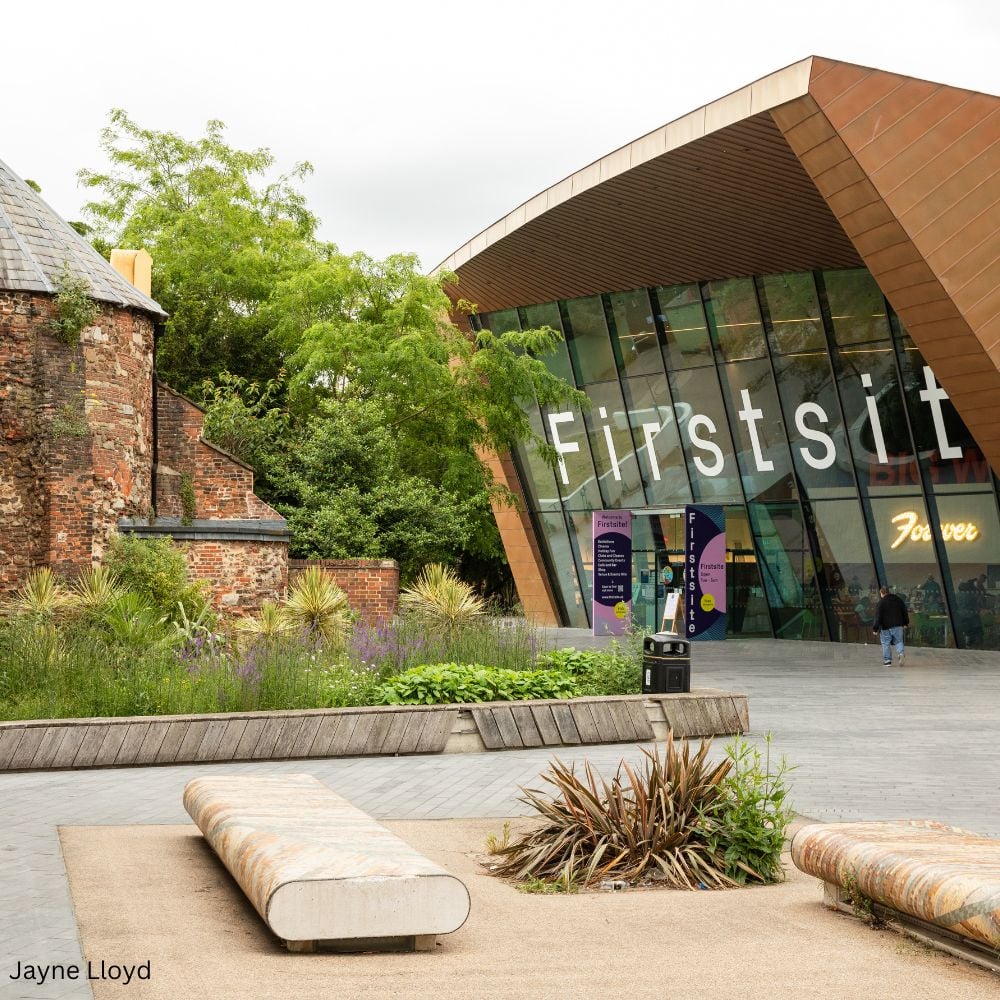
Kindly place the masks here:
<instances>
[{"instance_id":1,"label":"marbled stone bench cut off by the right photo edge","mask_svg":"<svg viewBox=\"0 0 1000 1000\"><path fill-rule=\"evenodd\" d=\"M842 906L848 885L919 928L955 939L987 960L1000 945L1000 841L929 820L814 823L792 839L797 868L822 879ZM984 947L985 946L985 947ZM974 957L962 950L963 957ZM988 961L992 967L992 962Z\"/></svg>"}]
</instances>

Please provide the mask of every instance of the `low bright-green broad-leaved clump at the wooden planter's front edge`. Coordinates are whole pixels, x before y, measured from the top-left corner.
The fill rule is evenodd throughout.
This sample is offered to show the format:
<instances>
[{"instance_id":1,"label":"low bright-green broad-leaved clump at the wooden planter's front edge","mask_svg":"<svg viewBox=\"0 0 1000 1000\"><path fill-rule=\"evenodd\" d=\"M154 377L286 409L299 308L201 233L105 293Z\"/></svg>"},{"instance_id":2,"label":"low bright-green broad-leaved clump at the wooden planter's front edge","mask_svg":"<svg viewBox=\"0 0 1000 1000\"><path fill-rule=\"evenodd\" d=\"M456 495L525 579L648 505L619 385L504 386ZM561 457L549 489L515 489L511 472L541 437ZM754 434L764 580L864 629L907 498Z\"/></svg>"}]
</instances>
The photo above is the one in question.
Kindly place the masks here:
<instances>
[{"instance_id":1,"label":"low bright-green broad-leaved clump at the wooden planter's front edge","mask_svg":"<svg viewBox=\"0 0 1000 1000\"><path fill-rule=\"evenodd\" d=\"M554 670L504 670L480 663L436 663L411 667L386 681L383 705L447 705L481 701L572 698L572 677Z\"/></svg>"}]
</instances>

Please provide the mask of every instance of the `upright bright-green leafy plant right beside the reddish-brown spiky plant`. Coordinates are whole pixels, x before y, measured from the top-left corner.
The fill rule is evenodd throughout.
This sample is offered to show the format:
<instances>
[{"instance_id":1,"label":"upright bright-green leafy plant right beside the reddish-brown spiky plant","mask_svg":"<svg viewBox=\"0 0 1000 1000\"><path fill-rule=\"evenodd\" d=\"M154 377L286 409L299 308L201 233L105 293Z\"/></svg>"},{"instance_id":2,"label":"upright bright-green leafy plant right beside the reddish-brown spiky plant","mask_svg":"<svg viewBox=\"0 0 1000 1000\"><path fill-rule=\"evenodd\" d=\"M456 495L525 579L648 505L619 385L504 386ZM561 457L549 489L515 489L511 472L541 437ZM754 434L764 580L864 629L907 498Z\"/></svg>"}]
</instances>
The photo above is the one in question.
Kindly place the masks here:
<instances>
[{"instance_id":1,"label":"upright bright-green leafy plant right beside the reddish-brown spiky plant","mask_svg":"<svg viewBox=\"0 0 1000 1000\"><path fill-rule=\"evenodd\" d=\"M722 850L726 875L734 882L784 878L781 852L794 815L785 779L792 768L782 757L772 770L771 741L772 734L765 734L763 754L742 737L726 744L731 768L718 801L705 813L709 843Z\"/></svg>"}]
</instances>

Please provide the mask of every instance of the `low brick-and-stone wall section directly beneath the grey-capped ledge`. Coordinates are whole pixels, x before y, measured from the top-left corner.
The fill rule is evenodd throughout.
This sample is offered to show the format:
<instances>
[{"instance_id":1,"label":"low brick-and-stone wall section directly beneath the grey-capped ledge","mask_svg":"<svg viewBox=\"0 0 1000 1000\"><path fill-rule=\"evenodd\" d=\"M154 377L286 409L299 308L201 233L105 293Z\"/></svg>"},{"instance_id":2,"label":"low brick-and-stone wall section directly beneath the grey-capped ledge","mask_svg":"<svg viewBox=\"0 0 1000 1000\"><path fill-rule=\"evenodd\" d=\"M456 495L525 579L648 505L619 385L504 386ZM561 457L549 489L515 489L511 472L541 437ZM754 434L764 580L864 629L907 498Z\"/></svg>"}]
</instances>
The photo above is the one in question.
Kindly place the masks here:
<instances>
[{"instance_id":1,"label":"low brick-and-stone wall section directly beneath the grey-capped ledge","mask_svg":"<svg viewBox=\"0 0 1000 1000\"><path fill-rule=\"evenodd\" d=\"M204 580L217 611L249 614L264 601L284 600L288 545L283 542L199 540L178 543L192 580Z\"/></svg>"}]
</instances>

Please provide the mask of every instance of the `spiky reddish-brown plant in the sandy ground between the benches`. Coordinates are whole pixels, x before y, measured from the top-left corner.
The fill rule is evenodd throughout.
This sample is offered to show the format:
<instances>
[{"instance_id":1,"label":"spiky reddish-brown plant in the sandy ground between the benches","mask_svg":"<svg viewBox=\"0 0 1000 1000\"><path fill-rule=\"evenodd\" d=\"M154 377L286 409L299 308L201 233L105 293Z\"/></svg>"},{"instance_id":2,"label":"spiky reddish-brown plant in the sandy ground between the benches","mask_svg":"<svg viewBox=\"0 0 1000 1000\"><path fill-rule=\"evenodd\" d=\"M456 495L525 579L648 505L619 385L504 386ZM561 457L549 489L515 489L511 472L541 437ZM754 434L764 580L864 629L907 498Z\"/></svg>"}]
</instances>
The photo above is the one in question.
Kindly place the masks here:
<instances>
[{"instance_id":1,"label":"spiky reddish-brown plant in the sandy ground between the benches","mask_svg":"<svg viewBox=\"0 0 1000 1000\"><path fill-rule=\"evenodd\" d=\"M522 789L522 799L538 812L542 825L501 848L496 873L515 882L564 880L586 887L602 879L639 882L647 878L678 889L722 889L735 883L725 874L724 851L712 847L702 829L732 762L712 765L709 741L691 754L679 750L673 734L661 758L643 750L637 770L624 761L612 780L594 774L581 778L559 760L543 780L551 797Z\"/></svg>"}]
</instances>

